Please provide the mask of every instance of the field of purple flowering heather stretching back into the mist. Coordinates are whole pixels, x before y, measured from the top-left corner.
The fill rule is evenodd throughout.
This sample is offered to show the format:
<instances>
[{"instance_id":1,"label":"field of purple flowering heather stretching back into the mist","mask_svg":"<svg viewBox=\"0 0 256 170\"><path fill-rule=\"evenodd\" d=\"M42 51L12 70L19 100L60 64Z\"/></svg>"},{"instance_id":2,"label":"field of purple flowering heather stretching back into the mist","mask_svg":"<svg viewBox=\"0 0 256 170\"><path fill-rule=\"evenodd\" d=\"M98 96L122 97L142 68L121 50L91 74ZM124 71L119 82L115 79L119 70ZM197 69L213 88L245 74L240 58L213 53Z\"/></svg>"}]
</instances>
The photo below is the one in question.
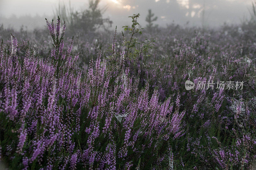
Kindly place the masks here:
<instances>
[{"instance_id":1,"label":"field of purple flowering heather stretching back into the mist","mask_svg":"<svg viewBox=\"0 0 256 170\"><path fill-rule=\"evenodd\" d=\"M0 169L256 169L256 22L139 17L0 27Z\"/></svg>"}]
</instances>

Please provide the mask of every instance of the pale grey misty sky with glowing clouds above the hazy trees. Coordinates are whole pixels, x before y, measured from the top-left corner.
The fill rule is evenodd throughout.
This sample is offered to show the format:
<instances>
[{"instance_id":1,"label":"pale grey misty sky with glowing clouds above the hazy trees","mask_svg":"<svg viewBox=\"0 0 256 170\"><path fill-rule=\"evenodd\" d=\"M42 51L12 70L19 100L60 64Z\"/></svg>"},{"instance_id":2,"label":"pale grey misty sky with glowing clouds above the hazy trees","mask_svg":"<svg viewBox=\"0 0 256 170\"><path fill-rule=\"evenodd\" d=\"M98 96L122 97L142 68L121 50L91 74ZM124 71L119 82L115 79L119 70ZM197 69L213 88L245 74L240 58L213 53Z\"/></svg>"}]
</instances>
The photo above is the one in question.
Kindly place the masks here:
<instances>
[{"instance_id":1,"label":"pale grey misty sky with glowing clouds above the hazy trees","mask_svg":"<svg viewBox=\"0 0 256 170\"><path fill-rule=\"evenodd\" d=\"M16 16L52 16L54 8L60 2L68 4L69 0L0 0L0 23L10 23ZM76 10L88 8L88 0L71 0L71 6ZM139 22L146 25L145 18L148 9L158 16L156 24L165 26L172 22L185 25L189 21L190 26L202 25L202 13L204 13L205 25L216 27L224 22L228 24L241 23L249 18L249 10L252 8L252 0L101 0L100 7L107 6L104 13L113 21L113 26L121 28L130 22L128 16L140 13ZM205 10L203 10L205 9ZM7 18L7 19L5 19ZM26 19L26 17L24 17ZM29 21L20 21L27 25ZM16 24L16 25L15 25Z\"/></svg>"}]
</instances>

